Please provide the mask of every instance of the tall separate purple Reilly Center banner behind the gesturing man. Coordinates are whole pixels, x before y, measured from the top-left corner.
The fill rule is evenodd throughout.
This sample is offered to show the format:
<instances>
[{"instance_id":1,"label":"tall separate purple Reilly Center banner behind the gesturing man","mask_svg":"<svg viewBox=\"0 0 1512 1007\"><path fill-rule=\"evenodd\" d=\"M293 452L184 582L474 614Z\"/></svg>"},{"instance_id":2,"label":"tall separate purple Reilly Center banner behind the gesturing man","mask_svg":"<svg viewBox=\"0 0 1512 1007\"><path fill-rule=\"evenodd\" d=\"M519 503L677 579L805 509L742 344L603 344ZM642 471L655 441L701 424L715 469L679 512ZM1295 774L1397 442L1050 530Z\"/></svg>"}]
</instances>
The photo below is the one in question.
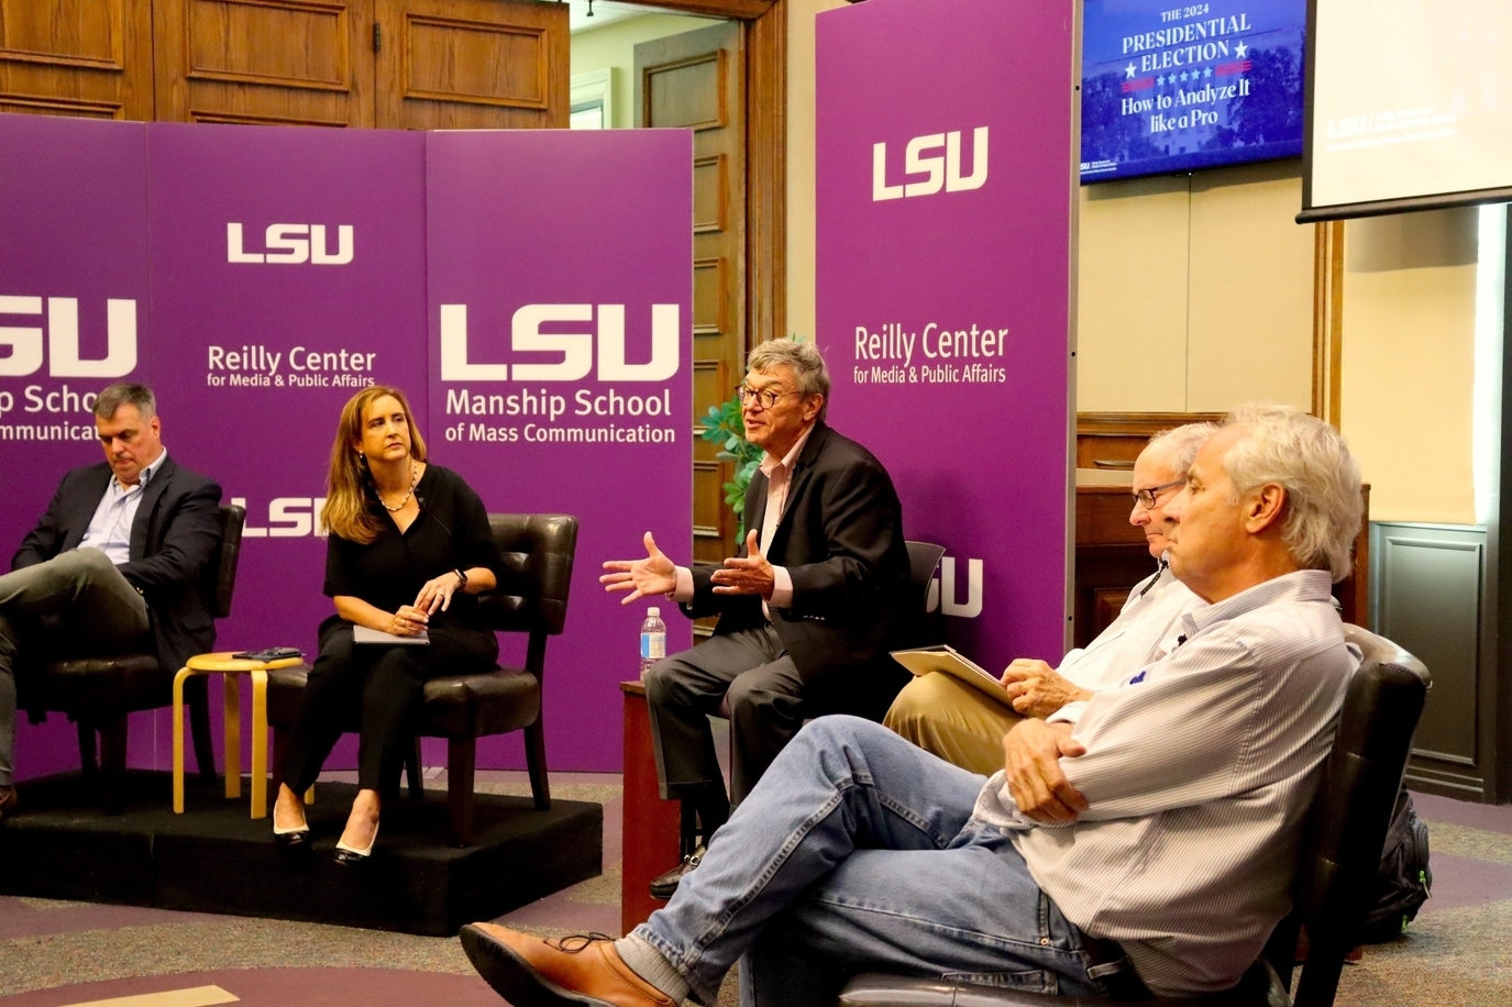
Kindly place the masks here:
<instances>
[{"instance_id":1,"label":"tall separate purple Reilly Center banner behind the gesturing man","mask_svg":"<svg viewBox=\"0 0 1512 1007\"><path fill-rule=\"evenodd\" d=\"M1074 21L1074 0L818 17L832 422L888 467L907 537L947 547L931 605L989 668L1057 662L1069 627Z\"/></svg>"}]
</instances>

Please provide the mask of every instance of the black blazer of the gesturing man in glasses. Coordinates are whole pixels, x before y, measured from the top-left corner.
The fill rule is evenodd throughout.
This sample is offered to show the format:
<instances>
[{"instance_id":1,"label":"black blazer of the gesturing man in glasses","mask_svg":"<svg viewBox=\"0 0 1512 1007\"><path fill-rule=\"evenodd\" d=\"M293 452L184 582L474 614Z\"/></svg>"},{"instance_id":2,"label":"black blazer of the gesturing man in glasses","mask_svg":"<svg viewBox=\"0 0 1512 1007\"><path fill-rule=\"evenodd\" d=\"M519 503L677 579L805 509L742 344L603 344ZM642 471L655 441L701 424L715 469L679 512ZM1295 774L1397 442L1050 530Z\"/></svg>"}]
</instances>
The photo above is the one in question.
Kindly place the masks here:
<instances>
[{"instance_id":1,"label":"black blazer of the gesturing man in glasses","mask_svg":"<svg viewBox=\"0 0 1512 1007\"><path fill-rule=\"evenodd\" d=\"M758 472L745 490L747 531L759 531L765 514L767 476ZM804 685L815 686L815 712L880 717L907 679L888 656L903 646L909 590L903 504L888 470L856 442L816 423L794 463L788 505L767 559L792 576L792 605L773 609L771 620ZM694 599L683 611L692 618L720 612L715 634L761 626L761 599L715 594L715 570L694 567ZM857 682L880 688L868 689L866 702L857 705L859 697L850 694Z\"/></svg>"}]
</instances>

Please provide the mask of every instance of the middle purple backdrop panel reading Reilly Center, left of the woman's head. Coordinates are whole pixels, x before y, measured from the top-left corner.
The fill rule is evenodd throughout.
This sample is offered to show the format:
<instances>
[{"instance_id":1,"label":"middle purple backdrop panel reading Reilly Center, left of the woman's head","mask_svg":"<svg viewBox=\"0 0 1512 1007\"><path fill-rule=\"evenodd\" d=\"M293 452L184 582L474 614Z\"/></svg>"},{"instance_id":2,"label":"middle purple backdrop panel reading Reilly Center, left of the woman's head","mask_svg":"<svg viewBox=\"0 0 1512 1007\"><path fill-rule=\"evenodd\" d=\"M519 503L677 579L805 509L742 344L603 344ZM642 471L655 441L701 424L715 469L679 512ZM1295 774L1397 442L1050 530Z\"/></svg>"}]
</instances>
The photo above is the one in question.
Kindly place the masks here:
<instances>
[{"instance_id":1,"label":"middle purple backdrop panel reading Reilly Center, left of the woman's head","mask_svg":"<svg viewBox=\"0 0 1512 1007\"><path fill-rule=\"evenodd\" d=\"M426 413L425 136L163 122L148 156L163 445L246 508L216 647L313 661L342 405L392 384ZM171 739L168 711L156 717ZM331 767L355 750L343 738Z\"/></svg>"}]
</instances>

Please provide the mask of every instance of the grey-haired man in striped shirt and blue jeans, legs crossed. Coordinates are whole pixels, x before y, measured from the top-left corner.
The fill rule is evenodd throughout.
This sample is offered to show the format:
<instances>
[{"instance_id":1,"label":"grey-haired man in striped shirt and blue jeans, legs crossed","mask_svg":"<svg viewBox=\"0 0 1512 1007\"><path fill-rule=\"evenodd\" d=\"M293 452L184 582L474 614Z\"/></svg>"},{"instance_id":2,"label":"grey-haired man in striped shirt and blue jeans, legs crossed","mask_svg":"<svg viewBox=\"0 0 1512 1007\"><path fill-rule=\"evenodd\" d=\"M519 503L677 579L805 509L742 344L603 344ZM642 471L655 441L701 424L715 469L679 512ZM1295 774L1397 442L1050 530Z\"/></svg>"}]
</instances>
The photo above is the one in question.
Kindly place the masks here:
<instances>
[{"instance_id":1,"label":"grey-haired man in striped shirt and blue jeans, legs crossed","mask_svg":"<svg viewBox=\"0 0 1512 1007\"><path fill-rule=\"evenodd\" d=\"M463 928L516 1004L829 1007L862 971L1067 995L1234 986L1288 909L1352 652L1329 600L1359 467L1284 407L1237 410L1167 505L1208 602L1084 708L1025 720L984 780L847 717L804 727L668 906L621 940Z\"/></svg>"}]
</instances>

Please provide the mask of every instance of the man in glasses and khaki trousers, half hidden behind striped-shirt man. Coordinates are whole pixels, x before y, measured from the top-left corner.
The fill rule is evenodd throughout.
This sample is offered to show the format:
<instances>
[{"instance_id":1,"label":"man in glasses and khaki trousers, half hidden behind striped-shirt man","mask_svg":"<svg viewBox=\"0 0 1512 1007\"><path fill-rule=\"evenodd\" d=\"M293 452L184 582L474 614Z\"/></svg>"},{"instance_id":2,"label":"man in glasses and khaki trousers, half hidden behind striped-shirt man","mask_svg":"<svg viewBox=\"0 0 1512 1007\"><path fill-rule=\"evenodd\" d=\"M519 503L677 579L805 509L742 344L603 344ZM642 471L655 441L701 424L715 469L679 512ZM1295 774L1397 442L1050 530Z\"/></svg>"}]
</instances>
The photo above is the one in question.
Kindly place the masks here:
<instances>
[{"instance_id":1,"label":"man in glasses and khaki trousers, half hidden behind striped-shirt man","mask_svg":"<svg viewBox=\"0 0 1512 1007\"><path fill-rule=\"evenodd\" d=\"M1049 717L1070 703L1086 703L1098 689L1117 685L1129 665L1169 650L1181 632L1181 615L1204 605L1166 561L1166 505L1187 482L1187 469L1213 423L1187 423L1151 438L1134 461L1134 510L1129 523L1145 531L1160 569L1134 585L1123 611L1084 649L1069 652L1058 668L1019 658L1002 673L1013 709L948 674L909 682L883 724L953 765L987 776L1002 765L1002 736L1024 717Z\"/></svg>"}]
</instances>

